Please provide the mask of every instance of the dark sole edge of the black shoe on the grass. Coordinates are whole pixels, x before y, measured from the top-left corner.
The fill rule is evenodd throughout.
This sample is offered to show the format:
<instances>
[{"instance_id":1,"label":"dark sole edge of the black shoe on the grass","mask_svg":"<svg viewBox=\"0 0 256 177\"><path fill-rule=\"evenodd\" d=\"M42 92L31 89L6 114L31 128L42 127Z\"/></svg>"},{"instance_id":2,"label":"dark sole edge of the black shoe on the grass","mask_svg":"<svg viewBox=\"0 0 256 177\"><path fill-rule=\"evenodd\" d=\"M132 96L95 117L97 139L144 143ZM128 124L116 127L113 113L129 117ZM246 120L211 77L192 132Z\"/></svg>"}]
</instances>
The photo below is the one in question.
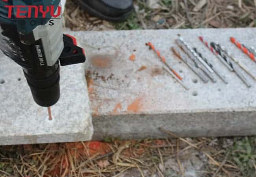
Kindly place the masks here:
<instances>
[{"instance_id":1,"label":"dark sole edge of the black shoe on the grass","mask_svg":"<svg viewBox=\"0 0 256 177\"><path fill-rule=\"evenodd\" d=\"M102 13L96 11L95 9L91 8L90 6L88 6L87 4L85 4L82 0L78 0L78 2L82 5L82 8L85 9L86 11L88 11L88 13L90 13L91 15L95 15L96 17L102 18L103 20L108 20L111 22L121 22L124 21L128 18L128 16L132 13L133 10L124 13L123 15L119 16L119 17L109 17L106 15L103 15Z\"/></svg>"}]
</instances>

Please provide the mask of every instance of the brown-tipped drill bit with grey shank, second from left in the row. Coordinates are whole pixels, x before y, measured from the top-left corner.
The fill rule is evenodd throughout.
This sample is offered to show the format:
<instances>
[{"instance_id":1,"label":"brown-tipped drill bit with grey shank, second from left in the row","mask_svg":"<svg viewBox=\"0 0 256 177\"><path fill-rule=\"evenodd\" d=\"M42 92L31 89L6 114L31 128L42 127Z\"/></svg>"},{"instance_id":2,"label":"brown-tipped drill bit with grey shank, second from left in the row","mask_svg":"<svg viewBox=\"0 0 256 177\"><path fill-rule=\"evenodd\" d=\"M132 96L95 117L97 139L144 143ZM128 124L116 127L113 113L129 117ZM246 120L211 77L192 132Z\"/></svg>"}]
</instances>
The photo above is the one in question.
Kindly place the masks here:
<instances>
[{"instance_id":1,"label":"brown-tipped drill bit with grey shank, second from left in the row","mask_svg":"<svg viewBox=\"0 0 256 177\"><path fill-rule=\"evenodd\" d=\"M187 64L187 66L189 66L189 68L195 72L195 74L197 74L198 77L200 77L200 79L202 79L202 81L204 83L207 83L209 80L206 76L204 76L204 74L201 73L201 70L199 68L197 68L196 66L192 65L191 63L188 62L187 59L187 55L183 52L181 52L181 50L179 50L178 48L174 48L172 47L171 50L173 51L173 53L179 58L181 59L184 63Z\"/></svg>"}]
</instances>

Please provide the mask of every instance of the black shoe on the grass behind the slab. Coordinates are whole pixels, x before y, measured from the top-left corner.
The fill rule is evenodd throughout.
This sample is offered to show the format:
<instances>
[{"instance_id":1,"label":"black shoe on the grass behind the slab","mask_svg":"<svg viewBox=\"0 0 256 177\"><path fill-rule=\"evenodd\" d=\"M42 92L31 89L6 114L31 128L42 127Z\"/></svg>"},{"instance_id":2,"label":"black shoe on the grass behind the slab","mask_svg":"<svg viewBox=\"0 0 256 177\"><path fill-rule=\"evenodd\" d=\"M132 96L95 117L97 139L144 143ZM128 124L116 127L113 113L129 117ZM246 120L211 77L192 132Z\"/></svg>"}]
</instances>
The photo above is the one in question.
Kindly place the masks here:
<instances>
[{"instance_id":1,"label":"black shoe on the grass behind the slab","mask_svg":"<svg viewBox=\"0 0 256 177\"><path fill-rule=\"evenodd\" d=\"M132 0L77 0L82 8L96 17L113 22L128 18L133 11Z\"/></svg>"}]
</instances>

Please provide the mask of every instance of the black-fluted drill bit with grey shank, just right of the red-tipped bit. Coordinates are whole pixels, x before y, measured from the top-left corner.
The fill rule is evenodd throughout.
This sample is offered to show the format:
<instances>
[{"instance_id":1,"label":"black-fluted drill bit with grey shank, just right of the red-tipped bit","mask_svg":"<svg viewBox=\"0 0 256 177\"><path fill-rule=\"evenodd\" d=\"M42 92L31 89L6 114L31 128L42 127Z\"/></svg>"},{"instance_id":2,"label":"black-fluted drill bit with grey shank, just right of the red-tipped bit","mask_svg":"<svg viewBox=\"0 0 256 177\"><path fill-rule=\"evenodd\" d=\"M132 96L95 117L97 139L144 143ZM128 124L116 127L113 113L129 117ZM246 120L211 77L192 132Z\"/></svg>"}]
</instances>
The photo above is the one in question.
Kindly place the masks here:
<instances>
[{"instance_id":1,"label":"black-fluted drill bit with grey shank, just right of the red-tipped bit","mask_svg":"<svg viewBox=\"0 0 256 177\"><path fill-rule=\"evenodd\" d=\"M228 65L230 65L230 67L233 68L234 72L237 74L237 76L245 83L245 85L247 85L247 87L251 87L251 84L249 83L249 81L246 79L245 76L243 76L243 74L241 74L241 72L239 71L238 68L236 68L236 66L234 66L232 64L231 61L229 61L226 58L226 55L224 55L223 52L221 52L221 50L218 48L217 44L215 44L214 42L211 42L211 46L214 48L214 50L228 63Z\"/></svg>"}]
</instances>

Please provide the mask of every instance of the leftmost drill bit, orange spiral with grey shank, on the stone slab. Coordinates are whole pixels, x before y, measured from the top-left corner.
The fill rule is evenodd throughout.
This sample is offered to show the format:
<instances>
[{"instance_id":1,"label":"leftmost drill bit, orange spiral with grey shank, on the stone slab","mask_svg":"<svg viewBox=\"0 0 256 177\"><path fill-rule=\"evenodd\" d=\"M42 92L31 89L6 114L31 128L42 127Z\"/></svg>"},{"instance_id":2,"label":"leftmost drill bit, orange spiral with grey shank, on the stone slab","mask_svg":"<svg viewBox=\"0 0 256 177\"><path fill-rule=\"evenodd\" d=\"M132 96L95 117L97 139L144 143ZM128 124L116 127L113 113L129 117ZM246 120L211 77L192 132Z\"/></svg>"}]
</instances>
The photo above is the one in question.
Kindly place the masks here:
<instances>
[{"instance_id":1,"label":"leftmost drill bit, orange spiral with grey shank, on the stone slab","mask_svg":"<svg viewBox=\"0 0 256 177\"><path fill-rule=\"evenodd\" d=\"M182 77L180 77L180 75L173 69L171 68L169 65L167 65L165 57L160 55L160 52L158 50L156 50L155 46L151 43L148 42L147 43L148 46L150 46L150 48L152 50L154 50L154 52L156 52L156 54L158 55L158 57L160 57L161 61L165 64L163 66L163 68L169 73L171 74L171 76L174 77L174 79L176 79L176 81L178 81L178 83L180 83L180 85L182 85L182 87L184 87L186 90L189 90L189 88L182 82ZM168 68L168 69L167 69ZM170 71L171 70L171 71Z\"/></svg>"}]
</instances>

